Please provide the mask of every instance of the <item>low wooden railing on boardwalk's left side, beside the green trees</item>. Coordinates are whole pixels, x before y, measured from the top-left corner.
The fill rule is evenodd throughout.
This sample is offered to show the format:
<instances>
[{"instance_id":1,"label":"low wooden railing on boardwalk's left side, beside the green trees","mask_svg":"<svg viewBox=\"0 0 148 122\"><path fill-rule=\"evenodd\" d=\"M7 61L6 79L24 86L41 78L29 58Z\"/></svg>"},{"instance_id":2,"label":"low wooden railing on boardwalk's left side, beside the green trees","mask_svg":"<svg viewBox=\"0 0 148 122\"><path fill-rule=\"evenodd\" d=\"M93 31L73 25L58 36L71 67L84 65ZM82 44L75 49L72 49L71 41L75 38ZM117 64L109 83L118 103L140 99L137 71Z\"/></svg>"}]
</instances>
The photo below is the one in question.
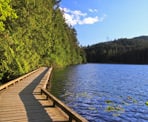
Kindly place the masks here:
<instances>
[{"instance_id":1,"label":"low wooden railing on boardwalk's left side, beside the green trees","mask_svg":"<svg viewBox=\"0 0 148 122\"><path fill-rule=\"evenodd\" d=\"M40 69L40 68L39 68L39 69ZM19 77L19 78L17 78L17 79L11 80L11 81L9 81L8 83L5 83L5 84L1 85L1 86L0 86L0 91L2 91L2 90L4 90L4 89L7 89L8 87L10 87L10 86L12 86L12 85L15 85L15 83L17 83L17 82L23 80L23 79L26 78L26 77L29 77L31 74L37 72L39 69L34 70L34 71L32 71L32 72L30 72L30 73L28 73L28 74L25 74L25 75L23 75L23 76L21 76L21 77Z\"/></svg>"}]
</instances>

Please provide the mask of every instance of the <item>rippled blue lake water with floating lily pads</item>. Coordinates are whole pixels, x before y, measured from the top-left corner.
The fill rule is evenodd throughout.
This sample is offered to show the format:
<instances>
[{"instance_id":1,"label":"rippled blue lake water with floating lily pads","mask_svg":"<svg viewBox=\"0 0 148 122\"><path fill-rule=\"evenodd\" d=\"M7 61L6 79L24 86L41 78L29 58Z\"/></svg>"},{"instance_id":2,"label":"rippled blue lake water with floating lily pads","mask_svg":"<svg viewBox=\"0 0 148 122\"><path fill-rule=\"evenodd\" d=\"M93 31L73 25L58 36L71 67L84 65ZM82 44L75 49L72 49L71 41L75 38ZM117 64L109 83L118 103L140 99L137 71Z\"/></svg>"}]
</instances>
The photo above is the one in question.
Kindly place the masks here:
<instances>
[{"instance_id":1,"label":"rippled blue lake water with floating lily pads","mask_svg":"<svg viewBox=\"0 0 148 122\"><path fill-rule=\"evenodd\" d=\"M148 121L148 65L75 65L55 71L51 84L90 122Z\"/></svg>"}]
</instances>

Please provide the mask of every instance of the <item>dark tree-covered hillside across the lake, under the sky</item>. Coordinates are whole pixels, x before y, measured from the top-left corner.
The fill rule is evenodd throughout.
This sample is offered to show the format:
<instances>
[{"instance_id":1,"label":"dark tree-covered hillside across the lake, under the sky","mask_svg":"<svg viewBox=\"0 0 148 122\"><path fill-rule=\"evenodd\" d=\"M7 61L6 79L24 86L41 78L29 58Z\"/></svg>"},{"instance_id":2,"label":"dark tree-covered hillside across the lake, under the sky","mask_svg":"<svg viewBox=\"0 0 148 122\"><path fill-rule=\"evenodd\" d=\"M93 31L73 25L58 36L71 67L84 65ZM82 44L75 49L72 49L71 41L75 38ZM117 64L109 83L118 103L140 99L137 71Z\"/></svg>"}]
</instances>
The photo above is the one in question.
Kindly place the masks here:
<instances>
[{"instance_id":1,"label":"dark tree-covered hillside across the lake, under the sky","mask_svg":"<svg viewBox=\"0 0 148 122\"><path fill-rule=\"evenodd\" d=\"M148 64L148 36L98 43L85 52L88 62Z\"/></svg>"}]
</instances>

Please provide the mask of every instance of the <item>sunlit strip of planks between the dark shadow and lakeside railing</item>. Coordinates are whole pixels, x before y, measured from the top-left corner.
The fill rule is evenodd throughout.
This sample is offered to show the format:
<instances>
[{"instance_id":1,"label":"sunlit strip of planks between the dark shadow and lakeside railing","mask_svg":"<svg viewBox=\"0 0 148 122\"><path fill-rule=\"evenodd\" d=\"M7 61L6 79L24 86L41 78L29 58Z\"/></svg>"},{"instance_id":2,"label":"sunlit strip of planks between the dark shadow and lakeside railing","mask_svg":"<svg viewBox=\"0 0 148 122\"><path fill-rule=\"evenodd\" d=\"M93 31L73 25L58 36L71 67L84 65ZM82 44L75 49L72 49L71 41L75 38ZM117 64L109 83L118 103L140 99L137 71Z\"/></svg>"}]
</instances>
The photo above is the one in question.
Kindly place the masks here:
<instances>
[{"instance_id":1,"label":"sunlit strip of planks between the dark shadow and lakeside railing","mask_svg":"<svg viewBox=\"0 0 148 122\"><path fill-rule=\"evenodd\" d=\"M59 110L57 107L52 107L53 102L49 99L46 99L46 95L41 95L41 88L46 88L46 85L49 80L49 76L51 73L51 69L48 71L47 75L45 75L38 86L34 89L34 97L36 100L40 102L40 104L44 107L44 110L50 116L53 122L68 122L68 116Z\"/></svg>"}]
</instances>

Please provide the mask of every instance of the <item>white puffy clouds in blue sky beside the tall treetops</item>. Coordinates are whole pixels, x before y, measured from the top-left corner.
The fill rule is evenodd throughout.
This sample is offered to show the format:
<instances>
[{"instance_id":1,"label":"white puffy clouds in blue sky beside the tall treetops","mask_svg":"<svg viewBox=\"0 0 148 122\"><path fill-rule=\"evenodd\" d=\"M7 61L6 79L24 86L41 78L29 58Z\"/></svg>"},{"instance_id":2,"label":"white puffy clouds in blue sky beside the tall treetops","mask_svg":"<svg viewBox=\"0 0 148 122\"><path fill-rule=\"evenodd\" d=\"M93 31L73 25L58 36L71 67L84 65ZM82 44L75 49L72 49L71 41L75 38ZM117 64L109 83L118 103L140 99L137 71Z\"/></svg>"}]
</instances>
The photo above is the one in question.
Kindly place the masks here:
<instances>
[{"instance_id":1,"label":"white puffy clouds in blue sky beside the tall treetops","mask_svg":"<svg viewBox=\"0 0 148 122\"><path fill-rule=\"evenodd\" d=\"M83 24L94 24L96 22L101 22L104 20L103 18L99 18L98 16L91 17L88 15L88 13L83 13L80 10L70 10L67 8L60 8L62 11L64 11L64 18L66 20L66 23L69 25L83 25ZM91 12L97 12L97 9L89 9Z\"/></svg>"}]
</instances>

